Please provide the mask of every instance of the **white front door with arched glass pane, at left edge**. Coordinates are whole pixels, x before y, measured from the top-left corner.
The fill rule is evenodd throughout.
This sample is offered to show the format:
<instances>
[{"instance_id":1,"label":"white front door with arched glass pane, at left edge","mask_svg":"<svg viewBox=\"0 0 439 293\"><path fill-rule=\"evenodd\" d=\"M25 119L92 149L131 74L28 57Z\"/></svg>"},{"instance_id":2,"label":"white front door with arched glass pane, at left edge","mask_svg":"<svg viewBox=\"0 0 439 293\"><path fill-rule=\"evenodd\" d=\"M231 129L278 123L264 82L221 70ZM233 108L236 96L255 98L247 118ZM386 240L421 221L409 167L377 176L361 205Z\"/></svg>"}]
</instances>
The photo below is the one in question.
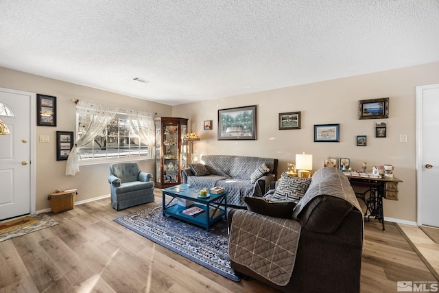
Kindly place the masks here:
<instances>
[{"instance_id":1,"label":"white front door with arched glass pane, at left edge","mask_svg":"<svg viewBox=\"0 0 439 293\"><path fill-rule=\"evenodd\" d=\"M10 135L0 135L0 220L35 211L31 208L34 101L32 93L0 88L0 118L10 130Z\"/></svg>"}]
</instances>

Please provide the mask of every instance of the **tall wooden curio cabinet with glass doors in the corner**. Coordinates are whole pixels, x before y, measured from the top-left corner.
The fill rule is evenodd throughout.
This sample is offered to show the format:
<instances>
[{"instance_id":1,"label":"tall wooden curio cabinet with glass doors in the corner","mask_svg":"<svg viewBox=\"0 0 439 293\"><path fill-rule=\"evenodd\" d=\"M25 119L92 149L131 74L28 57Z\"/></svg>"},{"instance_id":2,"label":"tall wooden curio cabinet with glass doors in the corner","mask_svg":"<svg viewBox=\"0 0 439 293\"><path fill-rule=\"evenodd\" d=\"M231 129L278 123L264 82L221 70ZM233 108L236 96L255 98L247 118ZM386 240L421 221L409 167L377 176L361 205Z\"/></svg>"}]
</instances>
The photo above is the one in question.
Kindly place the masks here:
<instances>
[{"instance_id":1,"label":"tall wooden curio cabinet with glass doors in the corner","mask_svg":"<svg viewBox=\"0 0 439 293\"><path fill-rule=\"evenodd\" d=\"M155 186L166 188L181 183L181 169L187 167L186 118L156 117Z\"/></svg>"}]
</instances>

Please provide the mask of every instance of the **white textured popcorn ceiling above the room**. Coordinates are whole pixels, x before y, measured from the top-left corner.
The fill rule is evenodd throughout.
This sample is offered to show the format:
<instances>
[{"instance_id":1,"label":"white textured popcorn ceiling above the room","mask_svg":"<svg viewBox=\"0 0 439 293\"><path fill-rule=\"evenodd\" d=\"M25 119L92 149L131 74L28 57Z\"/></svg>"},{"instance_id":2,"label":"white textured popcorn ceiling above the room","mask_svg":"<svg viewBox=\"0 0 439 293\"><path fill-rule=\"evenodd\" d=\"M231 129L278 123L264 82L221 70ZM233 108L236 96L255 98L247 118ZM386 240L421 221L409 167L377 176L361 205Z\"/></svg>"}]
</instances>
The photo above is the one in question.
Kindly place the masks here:
<instances>
[{"instance_id":1,"label":"white textured popcorn ceiling above the room","mask_svg":"<svg viewBox=\"0 0 439 293\"><path fill-rule=\"evenodd\" d=\"M1 0L0 12L1 67L169 105L439 61L439 0Z\"/></svg>"}]
</instances>

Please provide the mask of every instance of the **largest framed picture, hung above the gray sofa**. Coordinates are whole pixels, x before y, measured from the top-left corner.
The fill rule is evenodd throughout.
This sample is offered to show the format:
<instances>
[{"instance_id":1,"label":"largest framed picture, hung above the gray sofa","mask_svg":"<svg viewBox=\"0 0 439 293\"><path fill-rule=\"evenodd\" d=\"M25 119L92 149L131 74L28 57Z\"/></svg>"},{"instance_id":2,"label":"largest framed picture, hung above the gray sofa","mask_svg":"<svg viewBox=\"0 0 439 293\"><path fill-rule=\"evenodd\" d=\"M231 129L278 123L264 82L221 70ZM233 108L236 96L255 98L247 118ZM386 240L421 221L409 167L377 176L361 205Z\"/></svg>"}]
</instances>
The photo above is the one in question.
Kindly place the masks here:
<instances>
[{"instance_id":1,"label":"largest framed picture, hung above the gray sofa","mask_svg":"<svg viewBox=\"0 0 439 293\"><path fill-rule=\"evenodd\" d=\"M256 140L256 105L218 110L218 140Z\"/></svg>"}]
</instances>

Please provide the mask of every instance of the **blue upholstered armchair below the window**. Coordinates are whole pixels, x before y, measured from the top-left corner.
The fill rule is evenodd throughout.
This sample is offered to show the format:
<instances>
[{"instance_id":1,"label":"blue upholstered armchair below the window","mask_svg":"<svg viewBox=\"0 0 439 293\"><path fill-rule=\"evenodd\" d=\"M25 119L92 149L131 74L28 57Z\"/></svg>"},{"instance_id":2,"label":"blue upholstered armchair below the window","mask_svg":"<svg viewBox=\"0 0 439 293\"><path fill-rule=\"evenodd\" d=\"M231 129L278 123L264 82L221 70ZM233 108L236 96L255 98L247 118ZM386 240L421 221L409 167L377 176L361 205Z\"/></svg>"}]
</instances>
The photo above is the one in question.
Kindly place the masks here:
<instances>
[{"instance_id":1,"label":"blue upholstered armchair below the window","mask_svg":"<svg viewBox=\"0 0 439 293\"><path fill-rule=\"evenodd\" d=\"M109 167L111 205L117 211L154 201L152 174L142 172L138 163L117 163Z\"/></svg>"}]
</instances>

